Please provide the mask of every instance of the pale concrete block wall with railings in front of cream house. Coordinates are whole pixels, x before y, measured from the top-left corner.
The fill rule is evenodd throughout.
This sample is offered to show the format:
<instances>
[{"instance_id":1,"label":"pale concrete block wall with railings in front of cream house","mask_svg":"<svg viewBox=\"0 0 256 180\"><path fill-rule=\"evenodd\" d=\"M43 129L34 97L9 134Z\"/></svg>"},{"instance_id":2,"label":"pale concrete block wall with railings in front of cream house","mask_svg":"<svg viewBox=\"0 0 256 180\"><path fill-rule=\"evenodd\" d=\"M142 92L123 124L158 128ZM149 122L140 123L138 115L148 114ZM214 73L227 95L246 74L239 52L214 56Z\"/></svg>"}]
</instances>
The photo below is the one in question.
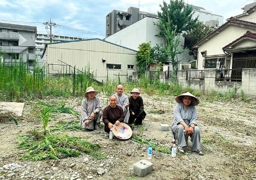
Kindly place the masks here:
<instances>
[{"instance_id":1,"label":"pale concrete block wall with railings in front of cream house","mask_svg":"<svg viewBox=\"0 0 256 180\"><path fill-rule=\"evenodd\" d=\"M237 93L244 92L247 96L256 97L256 69L243 69L242 82L216 81L215 70L205 70L205 80L186 79L187 71L178 71L178 81L183 88L190 87L200 92L226 93L236 89Z\"/></svg>"}]
</instances>

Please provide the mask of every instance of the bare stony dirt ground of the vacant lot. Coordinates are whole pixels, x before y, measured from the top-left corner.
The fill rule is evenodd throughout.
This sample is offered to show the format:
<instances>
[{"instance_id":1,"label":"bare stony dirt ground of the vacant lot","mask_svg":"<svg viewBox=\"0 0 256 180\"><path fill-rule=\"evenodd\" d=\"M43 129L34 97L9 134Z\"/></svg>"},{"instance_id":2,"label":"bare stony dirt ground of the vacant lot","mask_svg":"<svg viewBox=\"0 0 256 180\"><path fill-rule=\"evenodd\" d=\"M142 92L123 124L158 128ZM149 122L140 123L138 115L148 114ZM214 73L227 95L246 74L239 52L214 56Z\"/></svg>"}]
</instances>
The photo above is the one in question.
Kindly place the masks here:
<instances>
[{"instance_id":1,"label":"bare stony dirt ground of the vacant lot","mask_svg":"<svg viewBox=\"0 0 256 180\"><path fill-rule=\"evenodd\" d=\"M108 105L107 96L99 94L102 107ZM170 131L161 131L161 124L170 124L176 104L174 96L149 96L141 94L147 113L143 126L136 126L133 135L152 140L158 145L170 147ZM107 155L97 160L89 155L64 158L59 161L17 160L24 151L18 150L17 135L31 129L42 129L38 121L37 101L26 101L23 115L14 122L0 121L0 179L256 179L256 101L206 101L200 97L198 126L201 131L201 150L198 156L190 152L191 142L185 155L170 154L153 149L153 171L145 177L133 174L133 164L146 160L146 145L132 140L108 139L101 127L97 131L67 131L69 135L82 137L97 143ZM61 101L61 98L54 99ZM66 106L80 112L82 98L63 99ZM46 99L46 102L53 99ZM4 116L0 117L3 118ZM58 114L50 127L58 121L74 121L78 117Z\"/></svg>"}]
</instances>

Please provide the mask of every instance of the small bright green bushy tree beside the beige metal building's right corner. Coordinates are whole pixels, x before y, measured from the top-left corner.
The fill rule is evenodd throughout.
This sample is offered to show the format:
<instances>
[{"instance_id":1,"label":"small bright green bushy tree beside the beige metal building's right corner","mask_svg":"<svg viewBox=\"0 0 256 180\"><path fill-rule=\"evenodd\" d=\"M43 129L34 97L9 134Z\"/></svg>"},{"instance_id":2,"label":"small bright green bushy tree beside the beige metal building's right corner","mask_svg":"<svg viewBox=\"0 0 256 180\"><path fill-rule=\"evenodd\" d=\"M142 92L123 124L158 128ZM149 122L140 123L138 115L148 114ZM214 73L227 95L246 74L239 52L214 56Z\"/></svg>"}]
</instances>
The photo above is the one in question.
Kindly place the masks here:
<instances>
[{"instance_id":1,"label":"small bright green bushy tree beside the beige metal building's right corner","mask_svg":"<svg viewBox=\"0 0 256 180\"><path fill-rule=\"evenodd\" d=\"M138 48L139 51L136 54L136 65L138 66L139 71L143 72L148 69L150 62L154 62L151 42L141 43Z\"/></svg>"}]
</instances>

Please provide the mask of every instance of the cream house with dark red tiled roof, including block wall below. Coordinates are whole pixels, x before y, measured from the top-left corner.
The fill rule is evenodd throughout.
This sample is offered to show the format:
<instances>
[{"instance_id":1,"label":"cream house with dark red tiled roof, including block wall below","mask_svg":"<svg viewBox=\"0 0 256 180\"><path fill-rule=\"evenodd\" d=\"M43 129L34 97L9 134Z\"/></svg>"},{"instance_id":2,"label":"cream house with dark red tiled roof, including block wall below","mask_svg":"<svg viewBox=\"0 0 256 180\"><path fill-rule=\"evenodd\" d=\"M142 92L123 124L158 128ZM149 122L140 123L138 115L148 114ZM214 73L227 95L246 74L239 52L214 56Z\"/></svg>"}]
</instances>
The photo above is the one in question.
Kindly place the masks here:
<instances>
[{"instance_id":1,"label":"cream house with dark red tiled roof, including block wall below","mask_svg":"<svg viewBox=\"0 0 256 180\"><path fill-rule=\"evenodd\" d=\"M231 17L194 48L198 51L197 69L205 85L201 90L225 92L234 88L256 96L256 6ZM193 77L187 77L193 79Z\"/></svg>"}]
</instances>

